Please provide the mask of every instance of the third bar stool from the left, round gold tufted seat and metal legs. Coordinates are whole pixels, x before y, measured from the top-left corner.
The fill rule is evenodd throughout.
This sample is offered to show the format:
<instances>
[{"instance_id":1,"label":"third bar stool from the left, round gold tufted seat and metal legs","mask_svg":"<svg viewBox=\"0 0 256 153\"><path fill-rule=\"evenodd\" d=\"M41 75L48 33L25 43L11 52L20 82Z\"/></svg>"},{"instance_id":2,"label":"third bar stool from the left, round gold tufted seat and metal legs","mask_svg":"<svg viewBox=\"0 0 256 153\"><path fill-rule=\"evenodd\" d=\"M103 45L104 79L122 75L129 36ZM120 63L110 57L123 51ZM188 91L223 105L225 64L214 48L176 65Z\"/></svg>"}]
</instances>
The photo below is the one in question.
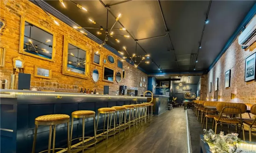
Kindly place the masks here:
<instances>
[{"instance_id":1,"label":"third bar stool from the left, round gold tufted seat and metal legs","mask_svg":"<svg viewBox=\"0 0 256 153\"><path fill-rule=\"evenodd\" d=\"M112 115L113 113L113 115ZM97 119L97 125L96 125L96 135L102 136L103 138L106 137L106 147L108 145L108 137L114 135L114 141L115 141L115 113L116 113L116 109L115 108L110 108L110 107L103 107L103 108L99 108L98 109L98 119ZM99 125L99 120L100 120L100 114L104 114L104 125L103 125L103 129L98 130L98 125ZM111 120L112 120L112 116L114 116L114 128L111 129L109 127L111 127ZM107 126L105 126L105 122L106 122L106 118L107 118ZM110 118L110 121L109 121ZM105 131L106 128L106 131ZM103 131L103 133L101 134L97 134L97 132L99 131ZM112 133L111 133L112 132ZM111 133L111 134L109 134Z\"/></svg>"}]
</instances>

